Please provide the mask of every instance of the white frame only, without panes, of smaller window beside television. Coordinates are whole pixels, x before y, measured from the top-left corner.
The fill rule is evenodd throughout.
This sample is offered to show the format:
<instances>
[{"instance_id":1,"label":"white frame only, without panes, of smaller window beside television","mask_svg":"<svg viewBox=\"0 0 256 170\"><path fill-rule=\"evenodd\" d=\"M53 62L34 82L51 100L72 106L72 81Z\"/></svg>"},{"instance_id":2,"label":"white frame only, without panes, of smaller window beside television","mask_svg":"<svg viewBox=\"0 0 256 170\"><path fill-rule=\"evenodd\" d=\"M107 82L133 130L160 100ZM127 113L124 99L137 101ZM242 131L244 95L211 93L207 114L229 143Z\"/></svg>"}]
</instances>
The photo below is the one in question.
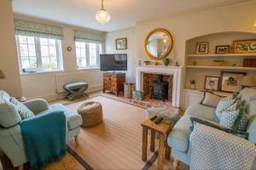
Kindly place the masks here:
<instances>
[{"instance_id":1,"label":"white frame only, without panes, of smaller window beside television","mask_svg":"<svg viewBox=\"0 0 256 170\"><path fill-rule=\"evenodd\" d=\"M83 69L95 69L95 68L100 68L100 45L102 46L102 54L103 54L103 42L90 42L90 41L75 41L79 43L85 43L85 67L79 67L77 59L77 47L76 47L76 64L77 64L77 69L78 70L83 70ZM96 43L96 65L90 65L90 48L89 48L89 43ZM81 54L81 48L79 48L80 54ZM83 57L82 57L83 58Z\"/></svg>"}]
</instances>

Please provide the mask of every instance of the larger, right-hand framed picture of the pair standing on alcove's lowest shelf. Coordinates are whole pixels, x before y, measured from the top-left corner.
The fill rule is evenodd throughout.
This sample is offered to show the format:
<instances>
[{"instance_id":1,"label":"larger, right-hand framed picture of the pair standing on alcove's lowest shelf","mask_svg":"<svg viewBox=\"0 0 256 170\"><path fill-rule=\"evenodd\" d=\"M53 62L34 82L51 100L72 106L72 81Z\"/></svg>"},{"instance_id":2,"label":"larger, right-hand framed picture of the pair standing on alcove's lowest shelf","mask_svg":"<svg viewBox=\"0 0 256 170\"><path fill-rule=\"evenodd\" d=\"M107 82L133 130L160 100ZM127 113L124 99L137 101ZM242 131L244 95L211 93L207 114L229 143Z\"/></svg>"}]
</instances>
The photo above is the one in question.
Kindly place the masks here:
<instances>
[{"instance_id":1,"label":"larger, right-hand framed picture of the pair standing on alcove's lowest shelf","mask_svg":"<svg viewBox=\"0 0 256 170\"><path fill-rule=\"evenodd\" d=\"M221 91L239 92L241 90L241 79L246 76L246 72L221 72Z\"/></svg>"}]
</instances>

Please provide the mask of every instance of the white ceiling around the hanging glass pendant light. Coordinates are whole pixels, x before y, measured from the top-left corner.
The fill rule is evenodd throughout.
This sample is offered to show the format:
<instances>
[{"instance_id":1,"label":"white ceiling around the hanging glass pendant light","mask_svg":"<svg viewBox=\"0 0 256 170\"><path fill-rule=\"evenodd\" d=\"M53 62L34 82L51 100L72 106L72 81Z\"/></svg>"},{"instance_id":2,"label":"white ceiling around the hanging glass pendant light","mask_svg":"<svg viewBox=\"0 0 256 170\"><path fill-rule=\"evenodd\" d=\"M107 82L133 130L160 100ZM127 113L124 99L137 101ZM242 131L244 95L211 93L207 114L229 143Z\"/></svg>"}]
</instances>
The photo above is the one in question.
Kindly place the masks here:
<instances>
[{"instance_id":1,"label":"white ceiling around the hanging glass pendant light","mask_svg":"<svg viewBox=\"0 0 256 170\"><path fill-rule=\"evenodd\" d=\"M102 26L96 21L101 0L13 0L16 14L83 26L98 31L117 31L137 22L172 14L224 6L248 0L105 0L111 19Z\"/></svg>"}]
</instances>

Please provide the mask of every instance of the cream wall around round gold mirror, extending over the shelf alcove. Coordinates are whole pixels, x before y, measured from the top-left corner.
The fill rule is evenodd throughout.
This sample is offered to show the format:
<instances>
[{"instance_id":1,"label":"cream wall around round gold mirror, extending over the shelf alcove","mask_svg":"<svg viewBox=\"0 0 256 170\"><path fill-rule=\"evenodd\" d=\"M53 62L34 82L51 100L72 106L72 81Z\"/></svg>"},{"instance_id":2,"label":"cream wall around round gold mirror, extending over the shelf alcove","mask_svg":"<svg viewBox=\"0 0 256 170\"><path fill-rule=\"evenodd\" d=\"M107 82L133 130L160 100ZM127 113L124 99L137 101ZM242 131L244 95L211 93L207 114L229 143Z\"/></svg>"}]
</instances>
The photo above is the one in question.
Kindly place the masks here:
<instances>
[{"instance_id":1,"label":"cream wall around round gold mirror, extending over the shelf alcove","mask_svg":"<svg viewBox=\"0 0 256 170\"><path fill-rule=\"evenodd\" d=\"M143 43L148 32L157 27L166 28L172 33L173 48L169 57L172 63L180 65L185 60L186 41L193 37L222 31L247 31L256 33L253 21L256 20L256 1L237 3L199 12L165 17L137 23L137 55L135 60L150 60L144 52Z\"/></svg>"}]
</instances>

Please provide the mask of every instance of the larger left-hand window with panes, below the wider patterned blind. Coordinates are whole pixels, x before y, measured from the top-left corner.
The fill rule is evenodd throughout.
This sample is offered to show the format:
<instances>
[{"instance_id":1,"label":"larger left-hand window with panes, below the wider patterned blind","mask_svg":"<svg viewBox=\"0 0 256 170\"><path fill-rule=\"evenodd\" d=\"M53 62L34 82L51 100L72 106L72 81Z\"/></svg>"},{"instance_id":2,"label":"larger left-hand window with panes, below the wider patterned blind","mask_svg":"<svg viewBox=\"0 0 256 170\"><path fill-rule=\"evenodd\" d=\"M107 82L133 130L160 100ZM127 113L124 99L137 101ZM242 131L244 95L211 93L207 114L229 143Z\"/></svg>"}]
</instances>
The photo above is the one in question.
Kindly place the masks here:
<instances>
[{"instance_id":1,"label":"larger left-hand window with panes, below the wider patterned blind","mask_svg":"<svg viewBox=\"0 0 256 170\"><path fill-rule=\"evenodd\" d=\"M20 71L61 70L61 40L16 36Z\"/></svg>"}]
</instances>

